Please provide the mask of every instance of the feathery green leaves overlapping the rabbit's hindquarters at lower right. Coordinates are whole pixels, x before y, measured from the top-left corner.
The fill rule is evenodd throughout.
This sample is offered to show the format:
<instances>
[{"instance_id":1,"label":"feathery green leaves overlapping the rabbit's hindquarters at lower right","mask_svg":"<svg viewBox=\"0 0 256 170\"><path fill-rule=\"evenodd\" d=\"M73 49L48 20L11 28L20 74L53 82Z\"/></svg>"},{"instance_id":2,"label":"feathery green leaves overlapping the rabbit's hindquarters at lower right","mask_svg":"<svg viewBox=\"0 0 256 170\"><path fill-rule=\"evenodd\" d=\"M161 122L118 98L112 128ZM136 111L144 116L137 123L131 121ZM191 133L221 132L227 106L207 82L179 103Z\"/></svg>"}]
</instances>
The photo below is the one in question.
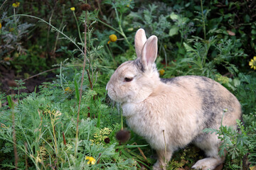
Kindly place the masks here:
<instances>
[{"instance_id":1,"label":"feathery green leaves overlapping the rabbit's hindquarters at lower right","mask_svg":"<svg viewBox=\"0 0 256 170\"><path fill-rule=\"evenodd\" d=\"M224 111L225 114L225 111ZM255 119L251 120L251 123L255 125ZM220 126L219 130L206 128L203 132L215 133L218 138L222 141L220 145L220 157L225 156L225 152L228 152L229 161L232 160L232 164L228 164L230 169L242 169L243 157L247 153L249 154L249 160L251 164L255 164L255 127L248 126L246 129L242 125L241 120L237 120L238 130L232 127Z\"/></svg>"}]
</instances>

